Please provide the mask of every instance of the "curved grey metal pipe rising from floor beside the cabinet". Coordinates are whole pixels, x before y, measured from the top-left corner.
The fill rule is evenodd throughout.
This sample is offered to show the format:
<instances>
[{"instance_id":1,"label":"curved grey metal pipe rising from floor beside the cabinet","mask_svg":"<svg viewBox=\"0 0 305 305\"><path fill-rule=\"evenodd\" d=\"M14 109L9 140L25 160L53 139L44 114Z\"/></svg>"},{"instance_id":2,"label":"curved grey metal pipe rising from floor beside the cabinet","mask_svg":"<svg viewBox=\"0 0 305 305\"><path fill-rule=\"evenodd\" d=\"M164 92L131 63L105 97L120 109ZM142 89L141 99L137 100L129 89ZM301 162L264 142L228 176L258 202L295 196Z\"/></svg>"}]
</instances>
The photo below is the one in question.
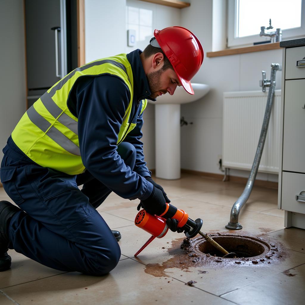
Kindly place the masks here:
<instances>
[{"instance_id":1,"label":"curved grey metal pipe rising from floor beside the cabinet","mask_svg":"<svg viewBox=\"0 0 305 305\"><path fill-rule=\"evenodd\" d=\"M260 158L262 156L263 149L264 149L265 139L266 139L270 115L271 115L271 109L272 109L272 104L273 104L274 88L275 88L275 74L276 74L277 70L281 71L282 66L278 63L272 63L271 64L271 77L270 77L271 85L270 85L269 92L268 92L265 116L264 116L263 126L262 126L262 129L260 132L260 139L258 141L256 154L254 157L253 165L251 168L251 172L250 172L246 187L245 187L244 191L242 192L242 195L239 197L239 199L237 199L235 201L234 205L232 206L230 221L226 225L227 229L239 230L242 228L242 225L238 222L239 212L242 209L242 207L245 205L247 200L249 199L249 196L252 192L254 181L255 181L255 178L257 175L257 170L260 165Z\"/></svg>"}]
</instances>

